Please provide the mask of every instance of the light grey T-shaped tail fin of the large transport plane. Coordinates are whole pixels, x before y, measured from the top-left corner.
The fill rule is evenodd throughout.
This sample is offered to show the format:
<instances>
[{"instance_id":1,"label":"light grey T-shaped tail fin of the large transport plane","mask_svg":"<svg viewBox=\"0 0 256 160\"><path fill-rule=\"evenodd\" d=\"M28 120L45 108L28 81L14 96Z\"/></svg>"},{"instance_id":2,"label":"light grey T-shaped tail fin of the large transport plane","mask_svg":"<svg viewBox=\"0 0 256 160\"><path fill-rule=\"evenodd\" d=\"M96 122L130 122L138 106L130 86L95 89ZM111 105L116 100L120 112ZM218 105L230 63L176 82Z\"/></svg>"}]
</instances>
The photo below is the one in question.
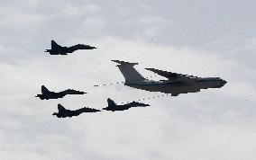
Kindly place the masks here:
<instances>
[{"instance_id":1,"label":"light grey T-shaped tail fin of the large transport plane","mask_svg":"<svg viewBox=\"0 0 256 160\"><path fill-rule=\"evenodd\" d=\"M120 60L112 60L113 62L118 63L116 67L122 72L125 78L125 84L134 84L138 83L139 81L145 80L145 78L139 74L139 72L133 67L138 65L138 63L130 63L124 62Z\"/></svg>"}]
</instances>

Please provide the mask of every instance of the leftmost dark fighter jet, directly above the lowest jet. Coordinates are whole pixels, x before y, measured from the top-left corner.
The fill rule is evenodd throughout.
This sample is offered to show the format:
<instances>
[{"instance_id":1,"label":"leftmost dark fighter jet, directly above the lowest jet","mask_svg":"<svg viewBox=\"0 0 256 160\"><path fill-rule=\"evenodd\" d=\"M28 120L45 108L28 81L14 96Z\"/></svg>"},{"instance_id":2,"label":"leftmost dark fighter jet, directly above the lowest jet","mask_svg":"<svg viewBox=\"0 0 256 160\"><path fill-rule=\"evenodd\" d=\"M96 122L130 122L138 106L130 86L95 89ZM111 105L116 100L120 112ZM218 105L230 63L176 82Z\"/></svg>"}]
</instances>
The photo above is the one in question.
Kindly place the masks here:
<instances>
[{"instance_id":1,"label":"leftmost dark fighter jet, directly above the lowest jet","mask_svg":"<svg viewBox=\"0 0 256 160\"><path fill-rule=\"evenodd\" d=\"M67 94L84 94L85 92L68 89L59 93L49 91L44 85L41 85L41 94L37 94L35 97L39 97L41 100L58 99Z\"/></svg>"}]
</instances>

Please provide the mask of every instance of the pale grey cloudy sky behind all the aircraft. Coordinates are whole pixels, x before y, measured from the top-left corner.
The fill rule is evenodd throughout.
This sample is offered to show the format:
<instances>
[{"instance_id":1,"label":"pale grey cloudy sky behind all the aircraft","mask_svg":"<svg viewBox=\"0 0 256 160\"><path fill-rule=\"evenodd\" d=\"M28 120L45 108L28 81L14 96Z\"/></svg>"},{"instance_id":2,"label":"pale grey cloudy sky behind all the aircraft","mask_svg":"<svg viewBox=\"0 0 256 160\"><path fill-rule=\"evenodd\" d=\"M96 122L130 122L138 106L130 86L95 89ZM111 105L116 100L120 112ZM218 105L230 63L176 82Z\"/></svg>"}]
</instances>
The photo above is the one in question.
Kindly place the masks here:
<instances>
[{"instance_id":1,"label":"pale grey cloudy sky behind all the aircraft","mask_svg":"<svg viewBox=\"0 0 256 160\"><path fill-rule=\"evenodd\" d=\"M253 0L0 0L0 159L253 160L256 156L256 2ZM50 40L94 50L50 56ZM112 59L193 76L219 76L220 89L102 109L148 93L123 84ZM160 79L156 76L152 79ZM41 101L52 91L87 92Z\"/></svg>"}]
</instances>

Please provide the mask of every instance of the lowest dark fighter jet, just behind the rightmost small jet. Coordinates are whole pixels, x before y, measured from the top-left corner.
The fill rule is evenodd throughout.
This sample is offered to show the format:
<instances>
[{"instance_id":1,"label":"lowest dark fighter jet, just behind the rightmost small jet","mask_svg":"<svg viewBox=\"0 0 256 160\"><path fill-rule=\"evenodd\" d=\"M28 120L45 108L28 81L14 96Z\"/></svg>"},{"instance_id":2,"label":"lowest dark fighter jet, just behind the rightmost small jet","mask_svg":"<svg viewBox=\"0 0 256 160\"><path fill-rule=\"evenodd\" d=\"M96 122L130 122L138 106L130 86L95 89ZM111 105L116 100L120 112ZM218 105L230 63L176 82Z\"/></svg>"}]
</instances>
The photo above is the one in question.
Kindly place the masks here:
<instances>
[{"instance_id":1,"label":"lowest dark fighter jet, just behind the rightmost small jet","mask_svg":"<svg viewBox=\"0 0 256 160\"><path fill-rule=\"evenodd\" d=\"M99 110L84 107L75 111L71 111L71 110L65 109L61 104L58 104L58 111L59 112L54 112L52 115L55 115L58 118L66 118L66 117L78 116L83 112L97 112Z\"/></svg>"}]
</instances>

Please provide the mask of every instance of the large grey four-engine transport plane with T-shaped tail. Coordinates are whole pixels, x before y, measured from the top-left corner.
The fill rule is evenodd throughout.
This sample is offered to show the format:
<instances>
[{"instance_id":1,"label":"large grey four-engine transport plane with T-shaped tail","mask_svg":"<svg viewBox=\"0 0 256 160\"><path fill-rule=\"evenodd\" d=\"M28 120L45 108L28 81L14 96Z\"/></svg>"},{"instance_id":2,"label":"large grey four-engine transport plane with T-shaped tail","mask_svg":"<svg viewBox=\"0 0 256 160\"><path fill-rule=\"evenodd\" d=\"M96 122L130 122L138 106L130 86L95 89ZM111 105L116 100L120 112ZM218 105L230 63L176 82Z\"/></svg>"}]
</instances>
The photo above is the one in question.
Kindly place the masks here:
<instances>
[{"instance_id":1,"label":"large grey four-engine transport plane with T-shaped tail","mask_svg":"<svg viewBox=\"0 0 256 160\"><path fill-rule=\"evenodd\" d=\"M153 81L140 75L133 66L138 63L123 62L120 60L112 60L119 65L116 67L122 72L125 83L124 85L142 89L150 92L171 93L171 96L178 96L180 93L197 93L201 89L221 88L226 81L219 77L198 77L188 76L155 68L146 68L160 76L164 76L167 80Z\"/></svg>"}]
</instances>

